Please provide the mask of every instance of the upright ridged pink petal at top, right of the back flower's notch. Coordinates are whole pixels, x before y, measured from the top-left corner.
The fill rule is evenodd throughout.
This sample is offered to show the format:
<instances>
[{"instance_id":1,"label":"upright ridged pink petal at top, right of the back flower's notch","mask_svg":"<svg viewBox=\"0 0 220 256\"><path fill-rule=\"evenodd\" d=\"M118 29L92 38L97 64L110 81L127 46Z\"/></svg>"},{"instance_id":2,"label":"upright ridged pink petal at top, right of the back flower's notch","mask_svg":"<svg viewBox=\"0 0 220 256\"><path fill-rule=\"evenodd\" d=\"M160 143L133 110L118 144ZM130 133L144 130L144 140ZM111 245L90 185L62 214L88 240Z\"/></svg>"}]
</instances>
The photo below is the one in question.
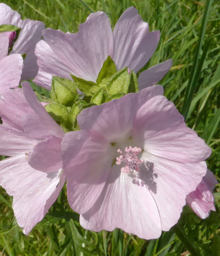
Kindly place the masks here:
<instances>
[{"instance_id":1,"label":"upright ridged pink petal at top, right of the back flower's notch","mask_svg":"<svg viewBox=\"0 0 220 256\"><path fill-rule=\"evenodd\" d=\"M138 10L130 7L122 14L114 28L114 57L118 69L128 67L134 72L149 61L157 48L160 31L149 32Z\"/></svg>"}]
</instances>

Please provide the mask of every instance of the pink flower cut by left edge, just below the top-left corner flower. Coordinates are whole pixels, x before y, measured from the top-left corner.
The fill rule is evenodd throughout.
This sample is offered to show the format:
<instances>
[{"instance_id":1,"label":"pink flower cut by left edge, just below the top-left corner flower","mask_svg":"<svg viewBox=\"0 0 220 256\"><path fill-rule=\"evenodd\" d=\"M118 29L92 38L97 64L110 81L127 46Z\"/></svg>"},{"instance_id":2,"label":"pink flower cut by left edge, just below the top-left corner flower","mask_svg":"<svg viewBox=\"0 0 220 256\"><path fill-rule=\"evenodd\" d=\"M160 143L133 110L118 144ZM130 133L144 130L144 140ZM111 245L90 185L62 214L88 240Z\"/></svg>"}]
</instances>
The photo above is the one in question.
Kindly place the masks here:
<instances>
[{"instance_id":1,"label":"pink flower cut by left edge, just below the top-left corner flower","mask_svg":"<svg viewBox=\"0 0 220 256\"><path fill-rule=\"evenodd\" d=\"M1 5L1 4L0 4ZM0 34L0 95L19 85L23 58L19 54L8 55L9 35Z\"/></svg>"}]
</instances>

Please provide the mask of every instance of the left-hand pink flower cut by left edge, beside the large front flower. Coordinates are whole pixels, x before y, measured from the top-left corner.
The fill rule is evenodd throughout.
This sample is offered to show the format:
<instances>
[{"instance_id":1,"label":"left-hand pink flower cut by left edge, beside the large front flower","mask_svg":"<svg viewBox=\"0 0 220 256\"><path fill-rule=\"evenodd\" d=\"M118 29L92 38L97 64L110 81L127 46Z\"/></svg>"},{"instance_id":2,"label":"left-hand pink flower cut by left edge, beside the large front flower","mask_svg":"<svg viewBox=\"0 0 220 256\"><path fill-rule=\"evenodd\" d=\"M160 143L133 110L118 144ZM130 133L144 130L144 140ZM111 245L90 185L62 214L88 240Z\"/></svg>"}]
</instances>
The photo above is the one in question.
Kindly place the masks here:
<instances>
[{"instance_id":1,"label":"left-hand pink flower cut by left edge, beside the large front flower","mask_svg":"<svg viewBox=\"0 0 220 256\"><path fill-rule=\"evenodd\" d=\"M61 169L64 133L28 83L0 97L0 116L0 154L10 156L0 161L0 185L13 196L14 215L27 235L65 183Z\"/></svg>"}]
</instances>

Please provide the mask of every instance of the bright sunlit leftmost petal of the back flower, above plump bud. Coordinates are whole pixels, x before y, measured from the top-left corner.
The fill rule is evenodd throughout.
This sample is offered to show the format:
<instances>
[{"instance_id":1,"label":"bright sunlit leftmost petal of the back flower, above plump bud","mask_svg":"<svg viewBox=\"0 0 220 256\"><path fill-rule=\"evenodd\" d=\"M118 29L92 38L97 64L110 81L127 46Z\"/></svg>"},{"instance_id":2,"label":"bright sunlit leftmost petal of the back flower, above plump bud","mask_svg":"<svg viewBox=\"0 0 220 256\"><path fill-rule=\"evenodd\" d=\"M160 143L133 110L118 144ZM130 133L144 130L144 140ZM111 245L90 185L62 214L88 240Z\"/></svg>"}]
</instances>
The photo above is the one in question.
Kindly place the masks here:
<instances>
[{"instance_id":1,"label":"bright sunlit leftmost petal of the back flower, above plump bud","mask_svg":"<svg viewBox=\"0 0 220 256\"><path fill-rule=\"evenodd\" d=\"M65 62L57 57L51 47L43 40L36 45L35 55L37 56L37 64L39 71L34 79L34 82L46 89L51 89L51 80L53 75L72 79L70 73L72 70L65 65Z\"/></svg>"}]
</instances>

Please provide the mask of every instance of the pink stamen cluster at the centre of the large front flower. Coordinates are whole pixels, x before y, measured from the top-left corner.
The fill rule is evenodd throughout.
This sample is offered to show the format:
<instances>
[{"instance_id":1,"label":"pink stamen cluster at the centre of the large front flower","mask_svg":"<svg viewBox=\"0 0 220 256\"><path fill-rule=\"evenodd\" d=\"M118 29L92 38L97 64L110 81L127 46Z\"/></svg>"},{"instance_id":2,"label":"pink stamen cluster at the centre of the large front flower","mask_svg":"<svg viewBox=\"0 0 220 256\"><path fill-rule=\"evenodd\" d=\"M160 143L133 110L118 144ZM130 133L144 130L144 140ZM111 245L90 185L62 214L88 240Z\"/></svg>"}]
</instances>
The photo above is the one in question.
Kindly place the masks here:
<instances>
[{"instance_id":1,"label":"pink stamen cluster at the centre of the large front flower","mask_svg":"<svg viewBox=\"0 0 220 256\"><path fill-rule=\"evenodd\" d=\"M120 165L122 162L125 163L125 166L120 169L121 172L139 172L140 171L140 165L142 162L144 162L143 159L139 159L138 154L142 151L141 148L138 147L132 147L127 146L125 149L125 154L123 154L123 151L118 149L117 152L120 154L119 157L116 157L116 164Z\"/></svg>"}]
</instances>

